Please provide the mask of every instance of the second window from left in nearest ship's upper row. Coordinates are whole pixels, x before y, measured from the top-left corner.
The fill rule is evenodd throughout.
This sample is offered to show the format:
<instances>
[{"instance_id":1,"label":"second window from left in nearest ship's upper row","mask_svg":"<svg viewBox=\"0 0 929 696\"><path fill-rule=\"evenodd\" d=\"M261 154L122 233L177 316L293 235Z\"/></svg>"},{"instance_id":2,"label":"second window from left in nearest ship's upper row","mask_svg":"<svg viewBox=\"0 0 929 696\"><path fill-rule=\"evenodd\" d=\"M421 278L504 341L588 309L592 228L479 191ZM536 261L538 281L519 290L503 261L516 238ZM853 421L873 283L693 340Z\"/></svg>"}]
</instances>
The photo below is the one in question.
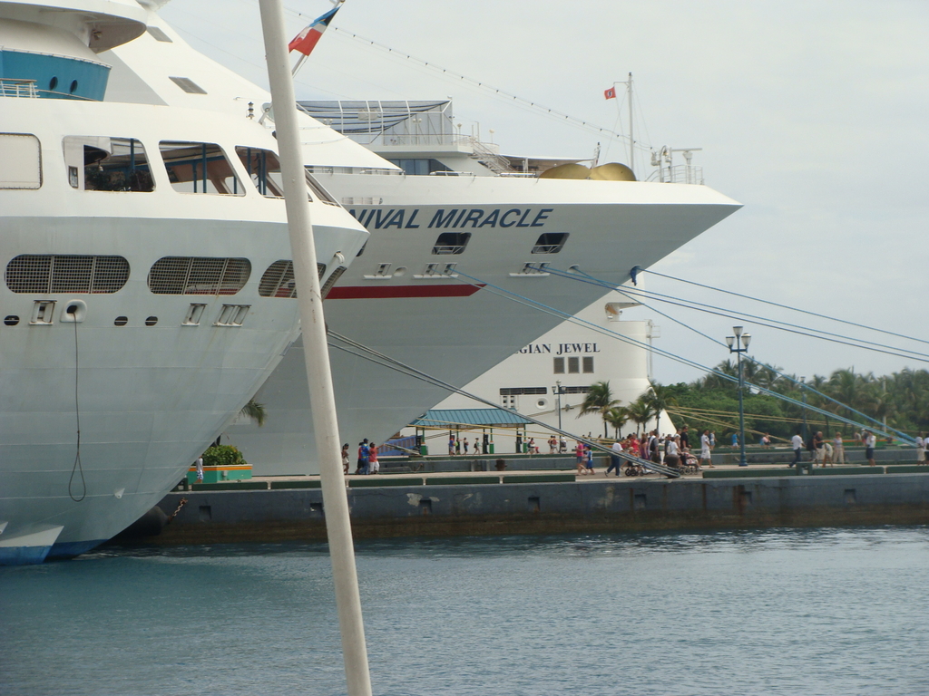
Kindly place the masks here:
<instances>
[{"instance_id":1,"label":"second window from left in nearest ship's upper row","mask_svg":"<svg viewBox=\"0 0 929 696\"><path fill-rule=\"evenodd\" d=\"M135 138L68 135L62 146L72 188L145 193L155 189L149 158Z\"/></svg>"}]
</instances>

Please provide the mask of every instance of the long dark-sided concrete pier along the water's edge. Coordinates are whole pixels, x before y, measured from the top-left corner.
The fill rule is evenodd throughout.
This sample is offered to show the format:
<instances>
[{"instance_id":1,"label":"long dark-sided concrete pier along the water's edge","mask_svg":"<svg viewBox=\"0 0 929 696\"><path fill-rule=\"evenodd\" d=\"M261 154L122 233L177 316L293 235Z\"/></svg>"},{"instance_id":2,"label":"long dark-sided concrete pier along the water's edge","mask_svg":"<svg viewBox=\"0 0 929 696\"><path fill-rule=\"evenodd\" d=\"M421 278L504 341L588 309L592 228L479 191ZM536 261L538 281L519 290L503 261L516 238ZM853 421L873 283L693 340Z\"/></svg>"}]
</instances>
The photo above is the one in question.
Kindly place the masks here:
<instances>
[{"instance_id":1,"label":"long dark-sided concrete pier along the water's edge","mask_svg":"<svg viewBox=\"0 0 929 696\"><path fill-rule=\"evenodd\" d=\"M606 478L553 471L348 477L356 538L631 532L642 530L929 522L929 467L717 467L706 478ZM916 472L906 472L914 471ZM899 472L897 472L899 471ZM312 477L204 485L146 543L322 540L325 509ZM214 487L213 490L209 488Z\"/></svg>"}]
</instances>

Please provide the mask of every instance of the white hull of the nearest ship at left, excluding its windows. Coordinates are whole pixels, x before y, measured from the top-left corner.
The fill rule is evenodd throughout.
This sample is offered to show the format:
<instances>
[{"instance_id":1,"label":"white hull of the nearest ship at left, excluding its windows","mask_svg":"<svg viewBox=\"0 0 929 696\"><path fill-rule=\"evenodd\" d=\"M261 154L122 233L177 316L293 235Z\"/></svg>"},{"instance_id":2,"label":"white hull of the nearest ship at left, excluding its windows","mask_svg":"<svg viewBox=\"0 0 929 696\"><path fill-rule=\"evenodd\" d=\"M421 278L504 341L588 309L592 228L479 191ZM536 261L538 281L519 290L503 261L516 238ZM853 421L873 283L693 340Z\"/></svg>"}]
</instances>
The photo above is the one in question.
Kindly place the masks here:
<instances>
[{"instance_id":1,"label":"white hull of the nearest ship at left, excluding its windows","mask_svg":"<svg viewBox=\"0 0 929 696\"><path fill-rule=\"evenodd\" d=\"M276 367L296 336L297 308L258 293L265 269L290 258L283 202L254 187L178 193L156 158L164 140L273 148L265 129L195 111L53 99L7 98L0 113L0 131L34 135L42 159L40 187L0 190L0 562L41 561L47 530L61 528L50 557L80 553L183 478ZM72 187L62 153L69 135L137 138L154 190ZM318 254L332 272L336 252L354 255L366 234L338 207L313 208ZM7 264L22 254L120 256L128 280L106 293L14 291ZM148 277L164 257L245 258L252 270L234 293L156 294ZM38 302L55 303L41 323L32 321ZM185 325L192 303L203 315ZM218 321L229 303L247 307L239 324ZM78 304L80 320L68 321L67 307Z\"/></svg>"}]
</instances>

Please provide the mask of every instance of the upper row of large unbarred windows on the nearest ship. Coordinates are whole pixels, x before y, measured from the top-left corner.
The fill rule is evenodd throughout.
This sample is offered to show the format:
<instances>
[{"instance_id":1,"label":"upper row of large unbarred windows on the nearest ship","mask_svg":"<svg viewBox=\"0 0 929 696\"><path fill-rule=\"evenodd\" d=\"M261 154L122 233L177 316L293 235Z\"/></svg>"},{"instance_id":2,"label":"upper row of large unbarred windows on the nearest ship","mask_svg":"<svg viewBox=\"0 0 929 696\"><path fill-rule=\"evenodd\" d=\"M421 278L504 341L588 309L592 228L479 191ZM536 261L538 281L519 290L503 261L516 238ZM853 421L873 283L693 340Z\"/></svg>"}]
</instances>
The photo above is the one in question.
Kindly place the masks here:
<instances>
[{"instance_id":1,"label":"upper row of large unbarred windows on the nearest ship","mask_svg":"<svg viewBox=\"0 0 929 696\"><path fill-rule=\"evenodd\" d=\"M140 140L130 137L68 135L63 139L68 183L85 191L149 193L155 190L153 161ZM181 193L244 196L241 172L216 143L162 140L158 144L171 187ZM235 148L248 179L266 198L281 198L281 163L262 148ZM42 187L39 139L29 134L0 134L0 188ZM307 187L337 205L309 174ZM310 200L312 197L310 196Z\"/></svg>"}]
</instances>

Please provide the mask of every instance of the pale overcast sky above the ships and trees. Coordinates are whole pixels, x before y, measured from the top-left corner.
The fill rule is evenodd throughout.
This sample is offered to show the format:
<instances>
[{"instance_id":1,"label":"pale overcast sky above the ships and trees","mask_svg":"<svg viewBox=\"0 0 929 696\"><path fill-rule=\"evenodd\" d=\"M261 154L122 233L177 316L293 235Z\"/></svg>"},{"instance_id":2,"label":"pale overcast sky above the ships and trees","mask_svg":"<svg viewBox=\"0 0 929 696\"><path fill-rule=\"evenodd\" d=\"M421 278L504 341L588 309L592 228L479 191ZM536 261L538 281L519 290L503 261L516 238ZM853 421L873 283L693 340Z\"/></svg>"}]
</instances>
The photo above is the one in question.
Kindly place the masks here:
<instances>
[{"instance_id":1,"label":"pale overcast sky above the ships and trees","mask_svg":"<svg viewBox=\"0 0 929 696\"><path fill-rule=\"evenodd\" d=\"M223 0L221 16L218 5L172 0L162 14L191 45L267 84L257 0ZM284 6L296 34L330 4ZM622 142L517 108L346 32L617 130L627 127L617 122L620 100L603 91L633 72L644 144L703 148L694 163L706 184L745 206L656 271L929 339L929 4L347 0L333 26L345 32L323 36L297 77L298 97L453 97L463 130L479 122L490 139L493 129L510 154L586 158L601 141L601 162L628 160ZM851 330L658 277L647 282L675 297ZM719 339L734 323L656 306ZM703 365L728 356L645 309L624 315L647 316L661 326L664 350ZM753 335L752 355L797 375L927 367L739 323ZM925 343L867 338L929 352ZM665 383L698 376L661 358L655 372Z\"/></svg>"}]
</instances>

